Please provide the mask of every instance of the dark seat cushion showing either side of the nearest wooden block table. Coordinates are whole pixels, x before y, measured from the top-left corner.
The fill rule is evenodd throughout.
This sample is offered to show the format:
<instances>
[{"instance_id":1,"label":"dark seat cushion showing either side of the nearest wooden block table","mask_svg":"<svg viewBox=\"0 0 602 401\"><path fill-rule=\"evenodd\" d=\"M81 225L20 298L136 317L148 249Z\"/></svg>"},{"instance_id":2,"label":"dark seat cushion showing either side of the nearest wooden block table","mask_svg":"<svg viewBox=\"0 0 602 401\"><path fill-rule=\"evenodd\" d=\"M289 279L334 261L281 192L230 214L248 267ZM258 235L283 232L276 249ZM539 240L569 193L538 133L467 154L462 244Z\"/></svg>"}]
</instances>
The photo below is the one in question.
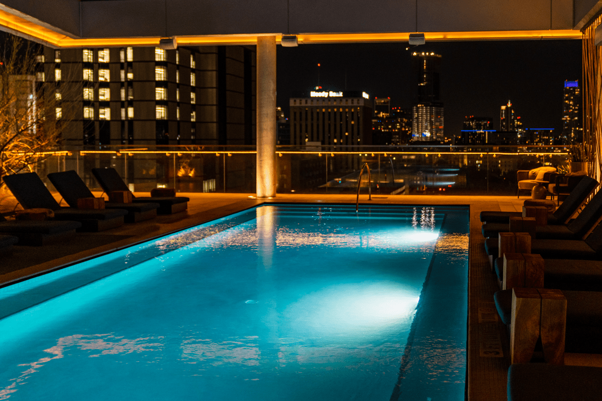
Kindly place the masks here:
<instances>
[{"instance_id":1,"label":"dark seat cushion showing either side of the nearest wooden block table","mask_svg":"<svg viewBox=\"0 0 602 401\"><path fill-rule=\"evenodd\" d=\"M566 325L602 327L602 292L562 291L566 298ZM504 325L512 320L512 290L493 295L495 308Z\"/></svg>"}]
</instances>

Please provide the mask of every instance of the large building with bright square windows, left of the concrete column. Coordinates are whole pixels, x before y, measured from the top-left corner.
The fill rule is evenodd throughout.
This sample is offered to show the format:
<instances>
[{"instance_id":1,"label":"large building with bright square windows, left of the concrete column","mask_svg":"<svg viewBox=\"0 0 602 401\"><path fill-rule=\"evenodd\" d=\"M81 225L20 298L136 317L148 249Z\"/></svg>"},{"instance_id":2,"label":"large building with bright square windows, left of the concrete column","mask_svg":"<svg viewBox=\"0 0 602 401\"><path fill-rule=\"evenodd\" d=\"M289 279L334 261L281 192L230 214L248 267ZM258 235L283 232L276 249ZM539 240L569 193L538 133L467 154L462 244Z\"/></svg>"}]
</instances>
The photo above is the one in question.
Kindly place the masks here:
<instances>
[{"instance_id":1,"label":"large building with bright square windows, left of the concrete column","mask_svg":"<svg viewBox=\"0 0 602 401\"><path fill-rule=\"evenodd\" d=\"M253 47L45 47L39 62L39 81L77 94L66 145L255 143Z\"/></svg>"}]
</instances>

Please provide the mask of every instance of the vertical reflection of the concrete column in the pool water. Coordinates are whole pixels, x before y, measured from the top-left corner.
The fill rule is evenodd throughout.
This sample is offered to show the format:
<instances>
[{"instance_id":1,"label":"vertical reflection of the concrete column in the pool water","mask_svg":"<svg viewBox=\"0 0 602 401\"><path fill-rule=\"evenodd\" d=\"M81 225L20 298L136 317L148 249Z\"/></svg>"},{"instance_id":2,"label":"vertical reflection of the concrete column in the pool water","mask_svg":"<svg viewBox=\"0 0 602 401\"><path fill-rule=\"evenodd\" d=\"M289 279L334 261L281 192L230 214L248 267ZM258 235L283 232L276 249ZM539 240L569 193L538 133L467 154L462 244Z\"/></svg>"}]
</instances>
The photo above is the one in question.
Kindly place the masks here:
<instances>
[{"instance_id":1,"label":"vertical reflection of the concrete column in the pool water","mask_svg":"<svg viewBox=\"0 0 602 401\"><path fill-rule=\"evenodd\" d=\"M276 249L275 206L256 209L257 218L257 301L262 313L258 314L267 327L267 340L278 344L278 313L276 313L276 285L273 257Z\"/></svg>"}]
</instances>

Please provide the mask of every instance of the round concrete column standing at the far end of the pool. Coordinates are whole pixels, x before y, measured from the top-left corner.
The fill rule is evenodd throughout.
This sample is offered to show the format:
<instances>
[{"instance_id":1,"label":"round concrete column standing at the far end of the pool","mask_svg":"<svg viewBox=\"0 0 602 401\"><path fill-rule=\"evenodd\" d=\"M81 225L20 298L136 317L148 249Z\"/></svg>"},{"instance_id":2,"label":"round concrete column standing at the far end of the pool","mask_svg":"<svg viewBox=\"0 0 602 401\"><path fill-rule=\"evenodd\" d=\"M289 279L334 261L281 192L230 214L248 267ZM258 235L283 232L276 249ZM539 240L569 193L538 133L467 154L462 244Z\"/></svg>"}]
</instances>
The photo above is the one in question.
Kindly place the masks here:
<instances>
[{"instance_id":1,"label":"round concrete column standing at the far end of the pool","mask_svg":"<svg viewBox=\"0 0 602 401\"><path fill-rule=\"evenodd\" d=\"M276 196L276 37L257 38L257 197Z\"/></svg>"}]
</instances>

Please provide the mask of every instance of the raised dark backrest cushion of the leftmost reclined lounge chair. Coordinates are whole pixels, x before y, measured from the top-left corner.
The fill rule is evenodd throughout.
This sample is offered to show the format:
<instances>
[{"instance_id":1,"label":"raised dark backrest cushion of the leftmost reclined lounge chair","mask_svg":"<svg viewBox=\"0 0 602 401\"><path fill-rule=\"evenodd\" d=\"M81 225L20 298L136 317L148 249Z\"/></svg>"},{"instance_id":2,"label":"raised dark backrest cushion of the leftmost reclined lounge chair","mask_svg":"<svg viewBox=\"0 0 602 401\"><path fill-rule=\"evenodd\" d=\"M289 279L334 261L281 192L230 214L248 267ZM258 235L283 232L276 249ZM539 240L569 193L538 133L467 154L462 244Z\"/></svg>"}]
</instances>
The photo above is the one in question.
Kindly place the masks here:
<instances>
[{"instance_id":1,"label":"raised dark backrest cushion of the leftmost reclined lounge chair","mask_svg":"<svg viewBox=\"0 0 602 401\"><path fill-rule=\"evenodd\" d=\"M2 178L23 209L60 209L36 173L13 174Z\"/></svg>"}]
</instances>

